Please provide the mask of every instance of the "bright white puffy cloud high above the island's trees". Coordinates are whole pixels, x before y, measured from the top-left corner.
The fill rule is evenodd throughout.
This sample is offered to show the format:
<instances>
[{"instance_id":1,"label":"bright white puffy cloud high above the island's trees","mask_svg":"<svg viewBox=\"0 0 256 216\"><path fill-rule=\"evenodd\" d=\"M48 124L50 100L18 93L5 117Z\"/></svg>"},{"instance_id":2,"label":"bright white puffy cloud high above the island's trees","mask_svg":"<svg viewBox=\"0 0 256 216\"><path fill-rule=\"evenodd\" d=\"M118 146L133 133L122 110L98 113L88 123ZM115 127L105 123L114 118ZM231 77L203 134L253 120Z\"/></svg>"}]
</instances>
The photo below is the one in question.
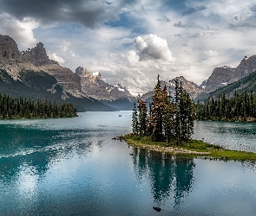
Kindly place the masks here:
<instances>
[{"instance_id":1,"label":"bright white puffy cloud high above the island's trees","mask_svg":"<svg viewBox=\"0 0 256 216\"><path fill-rule=\"evenodd\" d=\"M174 61L167 41L157 35L138 36L135 39L135 47L139 51L141 61L165 60Z\"/></svg>"}]
</instances>

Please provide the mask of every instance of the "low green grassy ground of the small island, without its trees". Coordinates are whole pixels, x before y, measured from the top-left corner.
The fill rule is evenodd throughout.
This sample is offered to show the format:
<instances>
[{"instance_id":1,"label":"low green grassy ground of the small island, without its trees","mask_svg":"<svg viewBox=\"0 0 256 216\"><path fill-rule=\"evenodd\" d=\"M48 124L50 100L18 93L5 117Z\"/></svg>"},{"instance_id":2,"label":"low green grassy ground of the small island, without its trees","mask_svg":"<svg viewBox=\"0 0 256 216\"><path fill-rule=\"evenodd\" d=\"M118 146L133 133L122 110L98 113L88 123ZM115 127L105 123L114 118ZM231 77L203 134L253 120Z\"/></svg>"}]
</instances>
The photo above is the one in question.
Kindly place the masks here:
<instances>
[{"instance_id":1,"label":"low green grassy ground of the small island, without its trees","mask_svg":"<svg viewBox=\"0 0 256 216\"><path fill-rule=\"evenodd\" d=\"M201 140L191 140L189 143L182 143L178 146L175 145L174 142L153 142L150 137L138 137L133 134L121 136L119 139L124 140L135 147L166 152L176 156L187 156L190 158L202 157L206 159L220 159L224 161L256 161L256 153L224 149L219 145L205 143Z\"/></svg>"}]
</instances>

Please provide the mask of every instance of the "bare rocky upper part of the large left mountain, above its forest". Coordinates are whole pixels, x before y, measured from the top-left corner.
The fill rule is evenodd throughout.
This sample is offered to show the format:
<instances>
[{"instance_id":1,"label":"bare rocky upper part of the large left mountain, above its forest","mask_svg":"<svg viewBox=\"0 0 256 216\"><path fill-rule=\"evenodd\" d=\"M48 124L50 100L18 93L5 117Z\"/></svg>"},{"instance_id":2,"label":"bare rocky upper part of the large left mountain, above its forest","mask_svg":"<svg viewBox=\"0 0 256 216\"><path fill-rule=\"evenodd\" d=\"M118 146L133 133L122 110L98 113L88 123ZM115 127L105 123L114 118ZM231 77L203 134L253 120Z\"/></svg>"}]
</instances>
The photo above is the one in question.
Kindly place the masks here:
<instances>
[{"instance_id":1,"label":"bare rocky upper part of the large left mountain, above its forest","mask_svg":"<svg viewBox=\"0 0 256 216\"><path fill-rule=\"evenodd\" d=\"M8 72L13 79L19 79L23 70L44 71L53 75L65 92L75 97L86 97L82 93L80 77L55 60L50 60L42 42L37 43L35 48L20 52L16 41L10 36L0 35L0 69Z\"/></svg>"}]
</instances>

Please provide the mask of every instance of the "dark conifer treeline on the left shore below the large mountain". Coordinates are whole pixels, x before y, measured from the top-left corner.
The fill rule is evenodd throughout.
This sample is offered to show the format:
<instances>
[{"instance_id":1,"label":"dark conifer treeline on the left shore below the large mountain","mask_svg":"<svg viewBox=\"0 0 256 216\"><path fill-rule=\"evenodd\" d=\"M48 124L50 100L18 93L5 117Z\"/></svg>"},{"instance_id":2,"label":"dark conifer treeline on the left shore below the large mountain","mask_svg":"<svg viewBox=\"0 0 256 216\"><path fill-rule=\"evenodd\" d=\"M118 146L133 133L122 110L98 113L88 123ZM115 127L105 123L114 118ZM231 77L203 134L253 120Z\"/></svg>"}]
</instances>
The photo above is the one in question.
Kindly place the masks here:
<instances>
[{"instance_id":1,"label":"dark conifer treeline on the left shore below the large mountain","mask_svg":"<svg viewBox=\"0 0 256 216\"><path fill-rule=\"evenodd\" d=\"M77 113L73 105L57 105L56 102L37 100L36 102L23 97L12 98L0 94L0 119L14 118L70 118Z\"/></svg>"}]
</instances>

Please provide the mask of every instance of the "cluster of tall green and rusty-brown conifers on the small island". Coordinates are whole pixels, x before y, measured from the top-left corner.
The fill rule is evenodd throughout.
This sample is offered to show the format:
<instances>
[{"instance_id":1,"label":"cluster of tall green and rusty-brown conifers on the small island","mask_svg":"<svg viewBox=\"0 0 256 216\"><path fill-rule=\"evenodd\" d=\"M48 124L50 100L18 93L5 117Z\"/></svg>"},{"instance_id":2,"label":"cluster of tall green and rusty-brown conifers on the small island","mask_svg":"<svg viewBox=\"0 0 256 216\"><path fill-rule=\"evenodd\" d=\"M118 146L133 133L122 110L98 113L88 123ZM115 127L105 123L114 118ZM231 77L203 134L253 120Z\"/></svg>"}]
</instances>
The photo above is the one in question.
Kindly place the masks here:
<instances>
[{"instance_id":1,"label":"cluster of tall green and rusty-brown conifers on the small island","mask_svg":"<svg viewBox=\"0 0 256 216\"><path fill-rule=\"evenodd\" d=\"M158 76L149 111L147 103L141 98L138 98L137 104L134 105L133 133L140 137L151 137L152 141L181 144L191 139L194 120L194 102L181 83L175 81L175 94L174 98L171 98L166 86L161 89Z\"/></svg>"}]
</instances>

